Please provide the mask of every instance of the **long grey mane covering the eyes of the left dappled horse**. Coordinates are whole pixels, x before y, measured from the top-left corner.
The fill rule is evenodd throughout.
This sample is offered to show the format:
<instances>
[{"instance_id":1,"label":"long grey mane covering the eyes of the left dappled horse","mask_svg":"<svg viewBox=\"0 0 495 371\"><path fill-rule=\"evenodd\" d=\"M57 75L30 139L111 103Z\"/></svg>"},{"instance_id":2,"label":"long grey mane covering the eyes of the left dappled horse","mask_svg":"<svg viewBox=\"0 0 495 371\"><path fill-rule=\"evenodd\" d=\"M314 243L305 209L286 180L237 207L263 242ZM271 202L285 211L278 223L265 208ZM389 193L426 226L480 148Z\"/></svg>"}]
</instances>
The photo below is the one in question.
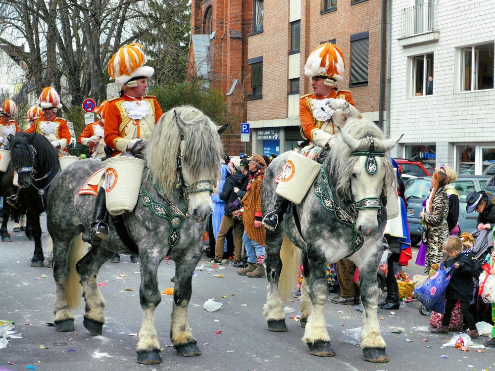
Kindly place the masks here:
<instances>
[{"instance_id":1,"label":"long grey mane covering the eyes of the left dappled horse","mask_svg":"<svg viewBox=\"0 0 495 371\"><path fill-rule=\"evenodd\" d=\"M174 111L187 125L185 133L180 132ZM145 157L165 194L171 194L175 189L181 134L184 134L183 171L188 171L191 183L210 179L216 189L222 156L217 128L202 111L189 105L173 108L160 117L148 140Z\"/></svg>"}]
</instances>

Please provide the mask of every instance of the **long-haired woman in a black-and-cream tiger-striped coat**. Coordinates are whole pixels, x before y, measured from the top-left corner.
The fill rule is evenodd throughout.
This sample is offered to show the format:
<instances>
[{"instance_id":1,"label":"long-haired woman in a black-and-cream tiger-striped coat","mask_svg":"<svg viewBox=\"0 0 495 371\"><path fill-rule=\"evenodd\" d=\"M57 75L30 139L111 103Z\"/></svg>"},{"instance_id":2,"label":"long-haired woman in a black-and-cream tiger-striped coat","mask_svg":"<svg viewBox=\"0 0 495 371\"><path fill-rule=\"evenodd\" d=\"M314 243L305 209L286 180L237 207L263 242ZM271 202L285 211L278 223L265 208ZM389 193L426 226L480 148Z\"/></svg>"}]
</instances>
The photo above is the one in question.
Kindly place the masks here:
<instances>
[{"instance_id":1,"label":"long-haired woman in a black-and-cream tiger-striped coat","mask_svg":"<svg viewBox=\"0 0 495 371\"><path fill-rule=\"evenodd\" d=\"M433 189L428 195L426 212L419 217L425 222L423 243L426 245L425 272L429 273L433 264L440 263L443 256L443 244L448 237L448 197L445 190L447 176L444 171L432 176Z\"/></svg>"}]
</instances>

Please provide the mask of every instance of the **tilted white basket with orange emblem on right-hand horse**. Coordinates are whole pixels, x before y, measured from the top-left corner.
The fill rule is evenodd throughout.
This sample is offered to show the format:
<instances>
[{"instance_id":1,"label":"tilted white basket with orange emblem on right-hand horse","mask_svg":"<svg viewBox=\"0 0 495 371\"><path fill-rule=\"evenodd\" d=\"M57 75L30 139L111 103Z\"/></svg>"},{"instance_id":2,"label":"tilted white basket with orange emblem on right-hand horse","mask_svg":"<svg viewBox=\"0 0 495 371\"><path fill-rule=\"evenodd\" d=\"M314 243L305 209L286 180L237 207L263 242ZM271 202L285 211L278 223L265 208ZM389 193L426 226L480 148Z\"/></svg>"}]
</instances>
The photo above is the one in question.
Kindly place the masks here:
<instances>
[{"instance_id":1,"label":"tilted white basket with orange emblem on right-hand horse","mask_svg":"<svg viewBox=\"0 0 495 371\"><path fill-rule=\"evenodd\" d=\"M290 151L275 193L298 205L318 176L320 169L321 164L318 162Z\"/></svg>"}]
</instances>

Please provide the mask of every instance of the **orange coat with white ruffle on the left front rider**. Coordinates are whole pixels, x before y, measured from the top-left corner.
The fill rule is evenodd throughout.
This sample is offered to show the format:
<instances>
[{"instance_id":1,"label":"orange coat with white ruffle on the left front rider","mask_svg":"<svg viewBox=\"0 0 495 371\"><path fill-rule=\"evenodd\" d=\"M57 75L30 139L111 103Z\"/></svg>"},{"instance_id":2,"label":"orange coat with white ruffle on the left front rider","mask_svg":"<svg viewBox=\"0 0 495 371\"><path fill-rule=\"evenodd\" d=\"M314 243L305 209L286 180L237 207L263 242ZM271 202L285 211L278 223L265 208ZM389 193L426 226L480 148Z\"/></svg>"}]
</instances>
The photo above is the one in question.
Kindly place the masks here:
<instances>
[{"instance_id":1,"label":"orange coat with white ruffle on the left front rider","mask_svg":"<svg viewBox=\"0 0 495 371\"><path fill-rule=\"evenodd\" d=\"M124 94L109 100L104 111L105 143L115 150L113 156L126 152L132 139L147 141L162 114L158 101L151 95L132 98Z\"/></svg>"}]
</instances>

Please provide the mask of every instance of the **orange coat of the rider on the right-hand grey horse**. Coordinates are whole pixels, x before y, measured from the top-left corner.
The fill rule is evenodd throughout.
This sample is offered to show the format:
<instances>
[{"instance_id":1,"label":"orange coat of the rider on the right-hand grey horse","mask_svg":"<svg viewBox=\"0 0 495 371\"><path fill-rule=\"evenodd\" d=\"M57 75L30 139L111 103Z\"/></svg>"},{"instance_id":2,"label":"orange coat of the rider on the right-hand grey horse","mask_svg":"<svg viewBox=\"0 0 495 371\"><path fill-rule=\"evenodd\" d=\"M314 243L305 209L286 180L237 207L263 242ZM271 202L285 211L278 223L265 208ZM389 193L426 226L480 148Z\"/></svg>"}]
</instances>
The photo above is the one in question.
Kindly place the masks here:
<instances>
[{"instance_id":1,"label":"orange coat of the rider on the right-hand grey horse","mask_svg":"<svg viewBox=\"0 0 495 371\"><path fill-rule=\"evenodd\" d=\"M324 99L324 98L336 98L336 99L345 99L350 105L356 107L354 104L354 100L352 99L352 93L348 90L338 90L332 89L330 94L327 96L316 95L316 94L306 94L299 98L299 120L301 123L301 135L304 138L309 138L311 141L313 140L313 132L317 129L320 129L323 125L323 121L318 121L313 115L311 110L311 102L310 99ZM332 123L332 135L335 135L335 128Z\"/></svg>"}]
</instances>

